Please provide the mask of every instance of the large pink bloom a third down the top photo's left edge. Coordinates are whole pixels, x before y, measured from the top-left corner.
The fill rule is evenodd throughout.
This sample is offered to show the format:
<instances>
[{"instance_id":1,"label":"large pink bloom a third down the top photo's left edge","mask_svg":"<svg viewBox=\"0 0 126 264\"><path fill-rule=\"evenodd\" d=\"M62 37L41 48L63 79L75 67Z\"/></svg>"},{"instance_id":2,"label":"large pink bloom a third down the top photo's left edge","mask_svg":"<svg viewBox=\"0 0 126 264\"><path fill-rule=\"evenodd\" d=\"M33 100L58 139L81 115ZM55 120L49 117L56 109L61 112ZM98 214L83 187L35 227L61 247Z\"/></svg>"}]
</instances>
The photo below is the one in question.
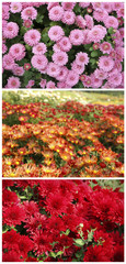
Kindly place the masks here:
<instances>
[{"instance_id":1,"label":"large pink bloom a third down the top photo's left edge","mask_svg":"<svg viewBox=\"0 0 126 264\"><path fill-rule=\"evenodd\" d=\"M19 33L19 25L14 22L9 22L3 31L3 36L7 38L13 38Z\"/></svg>"}]
</instances>

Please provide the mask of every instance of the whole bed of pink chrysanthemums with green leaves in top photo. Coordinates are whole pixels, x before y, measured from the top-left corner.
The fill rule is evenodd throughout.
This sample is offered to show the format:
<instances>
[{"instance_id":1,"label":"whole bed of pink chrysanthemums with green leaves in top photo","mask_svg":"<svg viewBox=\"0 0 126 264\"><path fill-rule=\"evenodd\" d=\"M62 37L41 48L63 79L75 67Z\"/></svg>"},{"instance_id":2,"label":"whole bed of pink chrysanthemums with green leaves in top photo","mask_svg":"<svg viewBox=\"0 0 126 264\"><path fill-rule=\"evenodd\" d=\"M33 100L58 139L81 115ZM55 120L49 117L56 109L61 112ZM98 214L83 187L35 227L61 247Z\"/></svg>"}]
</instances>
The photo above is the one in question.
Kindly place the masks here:
<instances>
[{"instance_id":1,"label":"whole bed of pink chrysanthemums with green leaves in top photo","mask_svg":"<svg viewBox=\"0 0 126 264\"><path fill-rule=\"evenodd\" d=\"M123 2L2 9L3 87L124 88Z\"/></svg>"}]
</instances>

